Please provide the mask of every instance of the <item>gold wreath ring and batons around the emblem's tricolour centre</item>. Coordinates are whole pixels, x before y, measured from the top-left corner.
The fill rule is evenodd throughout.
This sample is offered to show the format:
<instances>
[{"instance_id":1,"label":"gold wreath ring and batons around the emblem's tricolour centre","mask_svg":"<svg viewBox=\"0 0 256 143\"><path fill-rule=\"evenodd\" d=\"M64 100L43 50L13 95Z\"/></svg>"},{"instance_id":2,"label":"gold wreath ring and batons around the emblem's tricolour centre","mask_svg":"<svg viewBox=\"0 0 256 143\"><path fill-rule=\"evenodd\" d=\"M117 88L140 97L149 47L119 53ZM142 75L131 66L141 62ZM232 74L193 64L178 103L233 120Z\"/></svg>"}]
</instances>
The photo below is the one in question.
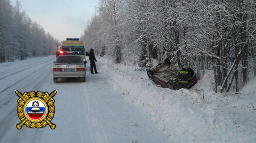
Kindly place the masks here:
<instances>
[{"instance_id":1,"label":"gold wreath ring and batons around the emblem's tricolour centre","mask_svg":"<svg viewBox=\"0 0 256 143\"><path fill-rule=\"evenodd\" d=\"M48 124L51 127L51 129L55 129L56 125L53 124L51 120L53 119L53 116L55 113L55 108L54 108L55 100L52 97L55 96L55 94L57 93L56 90L53 90L53 92L50 94L48 94L48 92L28 92L28 93L24 92L24 94L22 94L18 90L15 90L15 93L18 97L20 97L17 101L18 102L17 111L18 111L19 119L21 120L21 122L16 125L16 128L21 129L22 125L24 124L30 128L43 128L43 127L46 127L46 125ZM24 103L28 99L33 97L40 97L44 99L49 109L47 117L42 122L39 122L39 123L30 122L30 120L26 119L23 113Z\"/></svg>"}]
</instances>

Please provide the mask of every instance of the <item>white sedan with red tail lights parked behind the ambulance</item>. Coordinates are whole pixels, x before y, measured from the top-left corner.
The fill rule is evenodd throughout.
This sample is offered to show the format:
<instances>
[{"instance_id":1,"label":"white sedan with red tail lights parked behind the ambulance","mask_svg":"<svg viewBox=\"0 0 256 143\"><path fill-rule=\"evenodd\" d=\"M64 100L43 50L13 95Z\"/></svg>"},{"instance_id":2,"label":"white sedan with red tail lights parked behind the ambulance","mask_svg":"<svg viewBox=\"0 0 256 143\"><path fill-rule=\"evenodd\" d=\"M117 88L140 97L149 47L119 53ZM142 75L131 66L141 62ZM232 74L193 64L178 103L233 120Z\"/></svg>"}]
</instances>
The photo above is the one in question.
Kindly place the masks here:
<instances>
[{"instance_id":1,"label":"white sedan with red tail lights parked behind the ambulance","mask_svg":"<svg viewBox=\"0 0 256 143\"><path fill-rule=\"evenodd\" d=\"M79 77L85 81L85 66L80 55L59 55L53 66L53 81L57 83L60 77Z\"/></svg>"}]
</instances>

